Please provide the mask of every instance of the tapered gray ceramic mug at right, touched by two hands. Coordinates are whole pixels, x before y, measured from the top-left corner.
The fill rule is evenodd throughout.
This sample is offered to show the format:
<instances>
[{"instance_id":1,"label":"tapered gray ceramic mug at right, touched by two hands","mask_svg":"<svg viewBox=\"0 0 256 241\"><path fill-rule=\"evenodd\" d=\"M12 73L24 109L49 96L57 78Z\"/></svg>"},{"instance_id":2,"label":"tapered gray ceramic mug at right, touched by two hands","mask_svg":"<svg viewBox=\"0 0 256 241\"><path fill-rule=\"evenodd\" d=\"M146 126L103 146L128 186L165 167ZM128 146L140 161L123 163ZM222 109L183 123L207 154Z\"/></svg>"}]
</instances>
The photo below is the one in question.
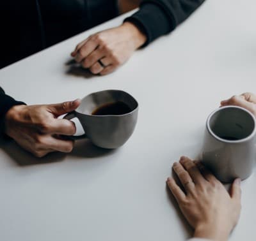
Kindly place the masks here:
<instances>
[{"instance_id":1,"label":"tapered gray ceramic mug at right, touched by two hands","mask_svg":"<svg viewBox=\"0 0 256 241\"><path fill-rule=\"evenodd\" d=\"M225 106L209 115L206 122L202 163L221 182L246 179L255 162L256 120L238 106Z\"/></svg>"}]
</instances>

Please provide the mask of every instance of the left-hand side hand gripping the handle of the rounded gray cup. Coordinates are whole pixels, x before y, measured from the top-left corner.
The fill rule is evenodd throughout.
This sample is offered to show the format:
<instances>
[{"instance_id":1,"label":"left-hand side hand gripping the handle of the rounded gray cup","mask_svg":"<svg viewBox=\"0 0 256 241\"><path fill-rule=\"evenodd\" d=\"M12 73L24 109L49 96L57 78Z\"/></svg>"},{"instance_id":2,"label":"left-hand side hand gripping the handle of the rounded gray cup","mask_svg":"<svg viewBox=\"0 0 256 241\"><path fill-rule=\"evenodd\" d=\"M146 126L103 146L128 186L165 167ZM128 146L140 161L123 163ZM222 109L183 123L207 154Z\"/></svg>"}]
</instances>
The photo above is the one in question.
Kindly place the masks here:
<instances>
[{"instance_id":1,"label":"left-hand side hand gripping the handle of the rounded gray cup","mask_svg":"<svg viewBox=\"0 0 256 241\"><path fill-rule=\"evenodd\" d=\"M57 119L72 112L80 105L80 100L54 105L16 105L5 115L5 133L36 157L49 152L71 152L74 141L64 140L60 135L74 135L74 122Z\"/></svg>"}]
</instances>

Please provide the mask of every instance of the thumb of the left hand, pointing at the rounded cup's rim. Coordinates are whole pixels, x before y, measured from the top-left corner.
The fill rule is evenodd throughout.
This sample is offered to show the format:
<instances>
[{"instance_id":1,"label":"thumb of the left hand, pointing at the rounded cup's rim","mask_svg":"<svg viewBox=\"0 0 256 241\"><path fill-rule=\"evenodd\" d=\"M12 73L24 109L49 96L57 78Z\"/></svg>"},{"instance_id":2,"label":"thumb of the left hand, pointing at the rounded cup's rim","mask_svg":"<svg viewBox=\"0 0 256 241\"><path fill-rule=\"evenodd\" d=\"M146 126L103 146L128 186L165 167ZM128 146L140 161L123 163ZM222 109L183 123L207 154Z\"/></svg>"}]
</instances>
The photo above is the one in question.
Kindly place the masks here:
<instances>
[{"instance_id":1,"label":"thumb of the left hand, pointing at the rounded cup's rim","mask_svg":"<svg viewBox=\"0 0 256 241\"><path fill-rule=\"evenodd\" d=\"M76 108L81 104L81 99L76 99L74 101L66 101L59 104L49 105L48 108L50 112L54 115L59 116L68 112L76 110Z\"/></svg>"}]
</instances>

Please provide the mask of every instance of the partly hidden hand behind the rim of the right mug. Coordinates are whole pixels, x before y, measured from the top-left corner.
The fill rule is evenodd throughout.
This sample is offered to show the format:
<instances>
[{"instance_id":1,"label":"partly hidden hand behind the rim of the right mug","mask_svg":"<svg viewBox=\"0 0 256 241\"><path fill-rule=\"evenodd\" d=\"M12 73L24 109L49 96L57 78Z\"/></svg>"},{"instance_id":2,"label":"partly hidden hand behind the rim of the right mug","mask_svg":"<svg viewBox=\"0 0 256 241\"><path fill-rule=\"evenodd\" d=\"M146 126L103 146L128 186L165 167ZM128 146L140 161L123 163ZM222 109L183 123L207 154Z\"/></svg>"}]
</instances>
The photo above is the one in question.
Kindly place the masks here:
<instances>
[{"instance_id":1,"label":"partly hidden hand behind the rim of the right mug","mask_svg":"<svg viewBox=\"0 0 256 241\"><path fill-rule=\"evenodd\" d=\"M244 93L240 96L232 96L230 99L221 101L221 106L236 105L249 110L256 117L256 96L252 93Z\"/></svg>"}]
</instances>

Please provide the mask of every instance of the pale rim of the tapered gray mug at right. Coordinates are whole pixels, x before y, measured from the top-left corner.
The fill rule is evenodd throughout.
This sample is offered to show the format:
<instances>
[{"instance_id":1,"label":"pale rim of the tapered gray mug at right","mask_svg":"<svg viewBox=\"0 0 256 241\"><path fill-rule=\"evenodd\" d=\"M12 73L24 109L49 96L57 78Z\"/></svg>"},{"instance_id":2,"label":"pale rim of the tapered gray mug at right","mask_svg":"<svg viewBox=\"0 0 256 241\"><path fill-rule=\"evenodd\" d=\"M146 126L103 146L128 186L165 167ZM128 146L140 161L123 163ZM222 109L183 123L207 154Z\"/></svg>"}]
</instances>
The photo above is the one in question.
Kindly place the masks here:
<instances>
[{"instance_id":1,"label":"pale rim of the tapered gray mug at right","mask_svg":"<svg viewBox=\"0 0 256 241\"><path fill-rule=\"evenodd\" d=\"M210 120L212 115L214 115L216 112L223 110L223 109L227 109L227 108L234 108L234 109L240 109L243 110L244 112L248 113L250 115L250 117L252 117L253 122L254 122L254 127L253 127L253 131L250 135L246 136L245 138L239 139L239 140L227 140L227 139L223 139L220 136L217 136L211 129L210 127ZM251 140L256 133L256 119L255 116L249 111L246 110L246 108L240 107L240 106L236 106L236 105L228 105L228 106L221 106L220 108L214 110L213 112L211 112L211 114L209 115L209 117L207 118L206 121L206 127L207 127L207 131L210 133L211 136L213 136L214 138L216 138L217 140L219 140L220 142L225 142L225 143L241 143L241 142L247 142L248 140Z\"/></svg>"}]
</instances>

